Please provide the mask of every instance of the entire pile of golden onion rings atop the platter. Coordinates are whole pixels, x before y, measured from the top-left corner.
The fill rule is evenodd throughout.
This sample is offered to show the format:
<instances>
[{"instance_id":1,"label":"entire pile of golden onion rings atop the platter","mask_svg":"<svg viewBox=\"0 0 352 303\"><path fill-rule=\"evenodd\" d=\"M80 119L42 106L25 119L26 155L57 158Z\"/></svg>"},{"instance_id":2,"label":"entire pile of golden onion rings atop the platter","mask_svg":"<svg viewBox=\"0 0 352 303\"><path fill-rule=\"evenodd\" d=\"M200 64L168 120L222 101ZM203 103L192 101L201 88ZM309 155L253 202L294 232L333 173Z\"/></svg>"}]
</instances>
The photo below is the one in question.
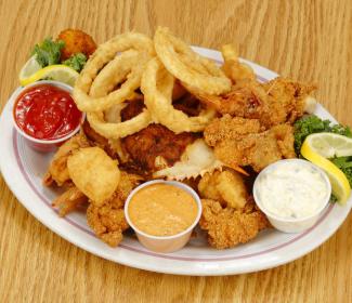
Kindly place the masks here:
<instances>
[{"instance_id":1,"label":"entire pile of golden onion rings atop the platter","mask_svg":"<svg viewBox=\"0 0 352 303\"><path fill-rule=\"evenodd\" d=\"M185 88L211 94L231 89L231 80L213 62L197 55L168 29L158 28L154 41L128 32L101 44L77 79L74 98L91 127L109 140L128 136L153 122L175 133L203 131L214 110L188 117L173 108L175 78ZM120 110L140 88L146 108L121 122Z\"/></svg>"}]
</instances>

